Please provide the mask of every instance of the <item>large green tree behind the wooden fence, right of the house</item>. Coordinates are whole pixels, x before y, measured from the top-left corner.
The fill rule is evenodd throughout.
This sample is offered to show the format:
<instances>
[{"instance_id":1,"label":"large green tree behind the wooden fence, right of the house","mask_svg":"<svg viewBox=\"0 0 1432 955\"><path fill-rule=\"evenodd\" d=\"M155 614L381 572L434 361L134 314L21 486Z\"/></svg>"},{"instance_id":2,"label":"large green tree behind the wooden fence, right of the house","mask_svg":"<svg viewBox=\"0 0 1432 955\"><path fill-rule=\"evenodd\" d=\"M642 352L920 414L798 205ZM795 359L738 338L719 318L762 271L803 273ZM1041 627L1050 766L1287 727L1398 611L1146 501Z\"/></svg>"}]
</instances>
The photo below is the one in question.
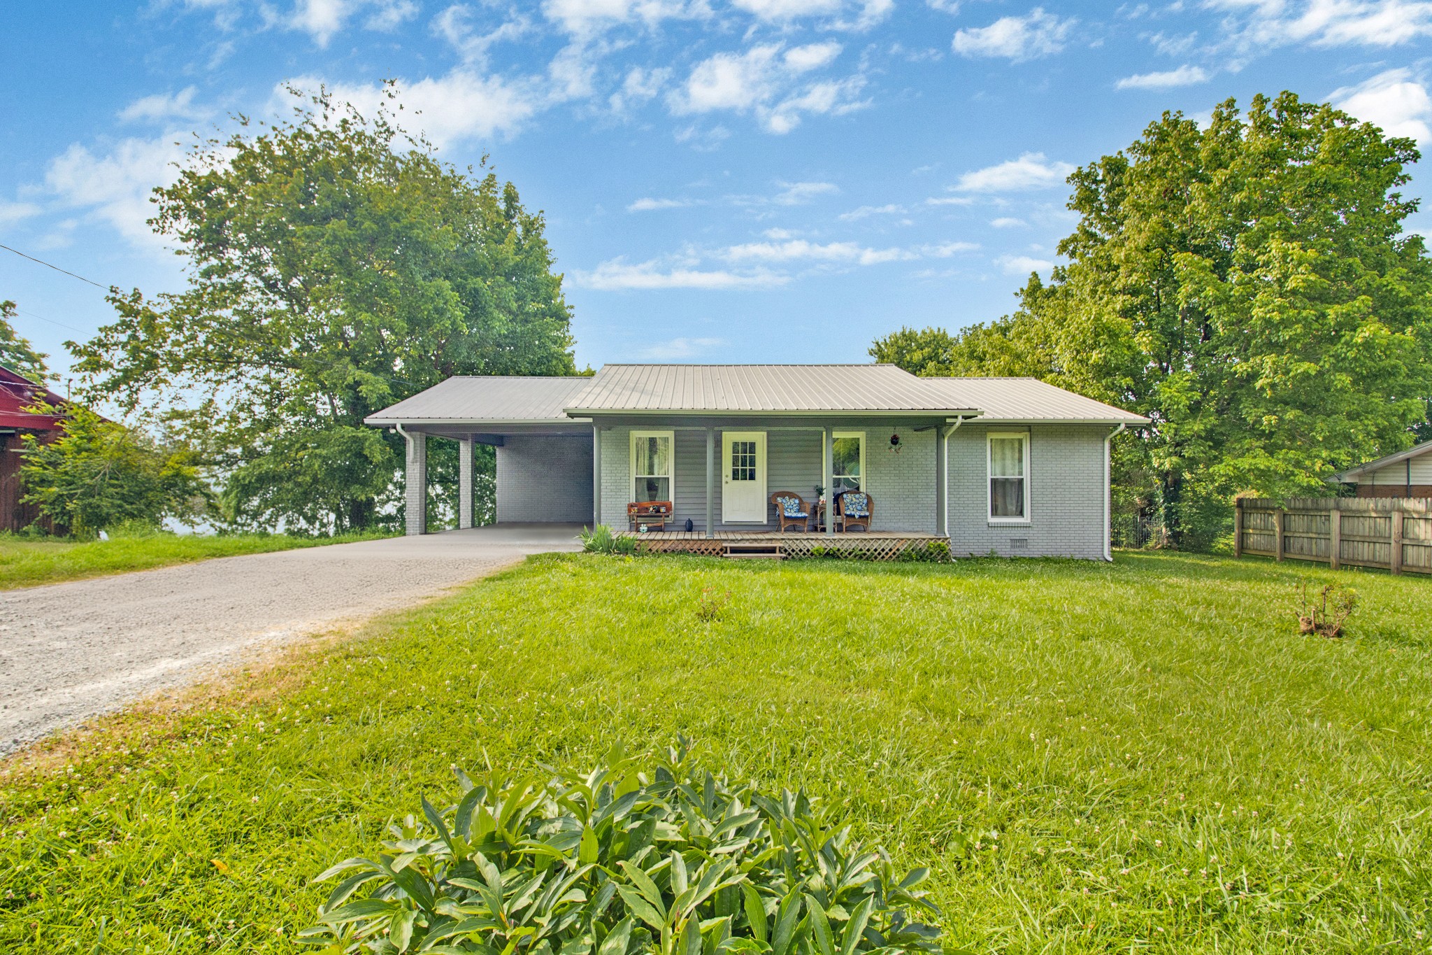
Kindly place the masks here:
<instances>
[{"instance_id":1,"label":"large green tree behind the wooden fence, right of the house","mask_svg":"<svg viewBox=\"0 0 1432 955\"><path fill-rule=\"evenodd\" d=\"M1293 93L1227 100L1207 127L1166 113L1070 176L1068 265L922 369L1034 374L1148 415L1126 491L1174 546L1217 534L1236 493L1326 493L1426 422L1432 263L1398 192L1418 157Z\"/></svg>"}]
</instances>

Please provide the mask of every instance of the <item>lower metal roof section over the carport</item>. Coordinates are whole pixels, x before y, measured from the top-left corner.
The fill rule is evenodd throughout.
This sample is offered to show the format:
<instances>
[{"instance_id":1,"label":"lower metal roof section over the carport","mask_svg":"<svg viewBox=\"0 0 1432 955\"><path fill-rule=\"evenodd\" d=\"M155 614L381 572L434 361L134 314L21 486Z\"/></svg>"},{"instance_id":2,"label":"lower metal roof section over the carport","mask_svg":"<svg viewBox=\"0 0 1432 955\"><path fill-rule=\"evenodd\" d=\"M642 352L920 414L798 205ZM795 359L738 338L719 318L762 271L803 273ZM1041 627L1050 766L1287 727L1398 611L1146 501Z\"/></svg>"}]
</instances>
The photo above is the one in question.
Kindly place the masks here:
<instances>
[{"instance_id":1,"label":"lower metal roof section over the carport","mask_svg":"<svg viewBox=\"0 0 1432 955\"><path fill-rule=\"evenodd\" d=\"M364 418L367 424L537 422L567 420L571 397L591 378L458 375Z\"/></svg>"}]
</instances>

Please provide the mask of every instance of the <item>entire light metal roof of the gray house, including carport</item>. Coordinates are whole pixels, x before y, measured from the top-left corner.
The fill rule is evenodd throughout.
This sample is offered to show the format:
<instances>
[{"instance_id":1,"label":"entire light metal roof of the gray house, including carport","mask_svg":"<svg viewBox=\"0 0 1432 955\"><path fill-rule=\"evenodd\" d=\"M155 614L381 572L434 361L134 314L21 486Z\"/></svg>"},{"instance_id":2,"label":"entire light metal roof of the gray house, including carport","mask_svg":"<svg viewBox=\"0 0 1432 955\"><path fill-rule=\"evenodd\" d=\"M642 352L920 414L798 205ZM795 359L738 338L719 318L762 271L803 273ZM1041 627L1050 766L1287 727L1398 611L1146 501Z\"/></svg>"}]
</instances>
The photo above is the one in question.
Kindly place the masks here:
<instances>
[{"instance_id":1,"label":"entire light metal roof of the gray house, including carport","mask_svg":"<svg viewBox=\"0 0 1432 955\"><path fill-rule=\"evenodd\" d=\"M544 424L593 415L921 414L1146 424L1034 378L916 378L896 365L604 365L591 378L448 378L368 424Z\"/></svg>"}]
</instances>

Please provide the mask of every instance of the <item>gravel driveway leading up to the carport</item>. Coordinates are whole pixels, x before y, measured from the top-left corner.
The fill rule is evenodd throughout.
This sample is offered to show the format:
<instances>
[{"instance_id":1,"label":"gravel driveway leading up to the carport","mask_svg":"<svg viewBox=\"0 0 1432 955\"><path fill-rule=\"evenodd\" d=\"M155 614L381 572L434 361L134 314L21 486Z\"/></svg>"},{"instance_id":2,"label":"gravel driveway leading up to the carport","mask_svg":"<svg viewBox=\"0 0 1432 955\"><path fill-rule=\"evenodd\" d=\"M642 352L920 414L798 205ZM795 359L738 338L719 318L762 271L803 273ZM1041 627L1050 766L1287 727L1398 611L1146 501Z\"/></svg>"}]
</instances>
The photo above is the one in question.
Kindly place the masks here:
<instances>
[{"instance_id":1,"label":"gravel driveway leading up to the carport","mask_svg":"<svg viewBox=\"0 0 1432 955\"><path fill-rule=\"evenodd\" d=\"M504 524L0 591L0 755L339 621L410 607L579 527Z\"/></svg>"}]
</instances>

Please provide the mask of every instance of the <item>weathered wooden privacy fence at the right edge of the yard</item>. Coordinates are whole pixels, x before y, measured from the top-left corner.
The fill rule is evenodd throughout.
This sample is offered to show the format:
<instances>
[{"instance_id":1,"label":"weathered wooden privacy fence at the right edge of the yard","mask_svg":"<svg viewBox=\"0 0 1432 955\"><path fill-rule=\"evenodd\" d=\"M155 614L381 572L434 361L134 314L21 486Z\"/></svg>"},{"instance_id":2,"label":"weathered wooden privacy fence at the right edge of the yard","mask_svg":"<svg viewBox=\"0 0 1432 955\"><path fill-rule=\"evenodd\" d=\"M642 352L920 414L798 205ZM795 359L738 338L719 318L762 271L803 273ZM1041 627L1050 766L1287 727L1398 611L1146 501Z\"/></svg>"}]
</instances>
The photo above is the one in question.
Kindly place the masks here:
<instances>
[{"instance_id":1,"label":"weathered wooden privacy fence at the right edge of the yard","mask_svg":"<svg viewBox=\"0 0 1432 955\"><path fill-rule=\"evenodd\" d=\"M1243 498L1233 511L1233 554L1315 560L1432 574L1432 498Z\"/></svg>"}]
</instances>

